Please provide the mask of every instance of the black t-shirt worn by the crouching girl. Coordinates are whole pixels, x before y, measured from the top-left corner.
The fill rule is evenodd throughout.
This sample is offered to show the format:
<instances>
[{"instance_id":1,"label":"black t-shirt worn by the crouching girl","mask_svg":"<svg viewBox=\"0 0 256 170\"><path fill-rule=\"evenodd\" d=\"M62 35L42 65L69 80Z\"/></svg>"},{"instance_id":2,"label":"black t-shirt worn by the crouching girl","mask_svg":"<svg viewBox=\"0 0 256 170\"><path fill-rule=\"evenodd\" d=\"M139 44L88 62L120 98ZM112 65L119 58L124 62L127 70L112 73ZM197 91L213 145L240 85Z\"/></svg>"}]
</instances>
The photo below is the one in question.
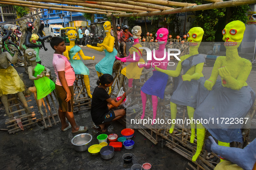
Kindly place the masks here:
<instances>
[{"instance_id":1,"label":"black t-shirt worn by the crouching girl","mask_svg":"<svg viewBox=\"0 0 256 170\"><path fill-rule=\"evenodd\" d=\"M91 118L95 125L100 125L104 121L104 116L109 112L107 107L107 99L110 96L104 88L96 87L91 99Z\"/></svg>"}]
</instances>

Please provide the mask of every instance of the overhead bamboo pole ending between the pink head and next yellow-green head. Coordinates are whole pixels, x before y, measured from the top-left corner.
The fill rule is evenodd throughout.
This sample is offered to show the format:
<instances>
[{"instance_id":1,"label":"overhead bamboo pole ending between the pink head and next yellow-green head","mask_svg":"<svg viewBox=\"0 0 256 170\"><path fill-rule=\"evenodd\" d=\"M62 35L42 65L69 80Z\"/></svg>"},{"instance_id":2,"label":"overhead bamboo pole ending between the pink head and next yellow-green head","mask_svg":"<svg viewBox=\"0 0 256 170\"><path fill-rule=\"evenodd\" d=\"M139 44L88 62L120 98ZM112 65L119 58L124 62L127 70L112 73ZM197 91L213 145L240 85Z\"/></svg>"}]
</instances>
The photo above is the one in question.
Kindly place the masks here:
<instances>
[{"instance_id":1,"label":"overhead bamboo pole ending between the pink head and next yellow-green head","mask_svg":"<svg viewBox=\"0 0 256 170\"><path fill-rule=\"evenodd\" d=\"M84 2L84 0L79 0ZM167 10L167 9L173 9L169 6L161 6L161 5L156 5L156 4L151 4L148 2L133 2L129 0L90 0L91 2L109 2L109 3L123 3L123 4L129 4L129 5L134 5L134 6L143 6L146 8L152 8L152 9L159 9L159 10ZM85 1L85 2L90 2L90 1Z\"/></svg>"}]
</instances>

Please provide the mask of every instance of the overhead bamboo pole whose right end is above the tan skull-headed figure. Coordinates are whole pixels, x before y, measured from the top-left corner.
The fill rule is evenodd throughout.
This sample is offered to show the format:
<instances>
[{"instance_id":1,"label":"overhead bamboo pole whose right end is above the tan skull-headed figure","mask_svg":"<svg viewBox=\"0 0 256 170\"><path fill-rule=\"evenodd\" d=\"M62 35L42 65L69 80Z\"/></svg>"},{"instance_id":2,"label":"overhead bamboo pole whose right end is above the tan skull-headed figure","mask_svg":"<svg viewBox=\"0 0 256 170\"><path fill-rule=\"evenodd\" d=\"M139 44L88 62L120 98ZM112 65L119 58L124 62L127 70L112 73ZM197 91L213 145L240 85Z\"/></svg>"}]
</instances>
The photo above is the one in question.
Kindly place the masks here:
<instances>
[{"instance_id":1,"label":"overhead bamboo pole whose right end is above the tan skull-headed figure","mask_svg":"<svg viewBox=\"0 0 256 170\"><path fill-rule=\"evenodd\" d=\"M126 11L131 13L141 13L146 12L145 10L134 10L134 9L126 9L126 8L117 8L112 6L101 6L97 4L88 4L88 3L81 3L81 1L78 0L65 0L65 1L59 1L59 0L29 0L29 1L35 1L35 2L45 2L45 3L61 3L66 5L76 5L76 6L85 6L90 8L99 8L99 9L110 9L110 10L116 10L116 11Z\"/></svg>"}]
</instances>

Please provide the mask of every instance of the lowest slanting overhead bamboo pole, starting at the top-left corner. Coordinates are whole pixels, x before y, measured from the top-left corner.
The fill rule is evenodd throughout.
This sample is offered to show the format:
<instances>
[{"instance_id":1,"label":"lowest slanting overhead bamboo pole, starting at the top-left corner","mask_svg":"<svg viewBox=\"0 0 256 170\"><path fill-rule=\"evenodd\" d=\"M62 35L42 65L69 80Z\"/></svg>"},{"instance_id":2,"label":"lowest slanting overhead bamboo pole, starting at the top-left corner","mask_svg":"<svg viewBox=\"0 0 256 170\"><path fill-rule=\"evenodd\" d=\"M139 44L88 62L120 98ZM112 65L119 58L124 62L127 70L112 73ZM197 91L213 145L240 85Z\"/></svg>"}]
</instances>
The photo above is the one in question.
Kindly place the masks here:
<instances>
[{"instance_id":1,"label":"lowest slanting overhead bamboo pole, starting at the top-left corner","mask_svg":"<svg viewBox=\"0 0 256 170\"><path fill-rule=\"evenodd\" d=\"M85 8L79 6L63 6L63 5L55 5L49 3L37 3L37 2L28 2L24 0L2 0L3 2L11 2L11 3L22 3L22 4L29 4L29 5L36 5L36 6L49 6L49 7L56 7L56 8L67 8L67 9L82 9L82 10L90 10L90 11L99 11L99 12L108 12L108 13L124 13L120 11L106 11L103 9L92 9L92 8Z\"/></svg>"}]
</instances>

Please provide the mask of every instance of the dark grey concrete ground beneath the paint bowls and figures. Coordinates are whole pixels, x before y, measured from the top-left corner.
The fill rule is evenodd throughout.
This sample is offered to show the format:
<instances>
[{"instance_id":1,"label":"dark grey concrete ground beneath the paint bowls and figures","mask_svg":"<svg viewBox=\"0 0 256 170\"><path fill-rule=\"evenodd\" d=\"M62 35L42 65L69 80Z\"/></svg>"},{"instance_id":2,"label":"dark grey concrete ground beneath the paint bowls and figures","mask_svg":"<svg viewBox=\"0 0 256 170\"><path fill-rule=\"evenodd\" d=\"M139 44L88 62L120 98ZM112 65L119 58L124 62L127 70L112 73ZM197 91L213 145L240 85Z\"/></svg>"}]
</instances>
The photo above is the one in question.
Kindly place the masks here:
<instances>
[{"instance_id":1,"label":"dark grey concrete ground beneath the paint bowls and figures","mask_svg":"<svg viewBox=\"0 0 256 170\"><path fill-rule=\"evenodd\" d=\"M40 50L40 58L42 65L48 67L55 76L52 68L52 54L54 50L49 43L45 43L48 51ZM87 56L95 56L95 60L86 60L84 63L90 70L90 84L91 91L96 87L97 74L95 71L95 64L103 57L104 52L92 50L88 47L81 47L84 54ZM248 56L248 55L245 55ZM206 78L211 75L214 61L207 60L204 66L203 74ZM175 69L175 66L169 66L168 69ZM24 73L23 68L17 68L18 72ZM33 85L29 81L26 73L23 74L26 80L26 86ZM256 91L256 69L253 69L247 79L247 83ZM40 118L37 113L37 107L34 97L31 95L27 99L32 99L29 106L34 106L32 111L35 111L36 117ZM6 129L4 123L6 117L3 105L0 105L0 129ZM91 129L93 125L91 121L90 111L81 111L75 113L75 120L78 125L87 126L88 131L93 136L91 144L98 144L97 135L99 133ZM66 132L61 131L61 125L58 123L48 130L42 130L41 123L32 126L28 130L20 131L15 134L8 134L6 131L0 131L0 169L3 170L50 170L50 169L81 169L81 170L128 170L133 164L143 164L149 162L152 164L152 170L185 170L188 167L188 160L180 156L169 148L161 148L159 145L154 145L138 131L135 130L133 140L135 141L134 148L126 150L122 148L121 151L116 151L115 156L110 160L103 160L100 155L92 156L88 151L77 152L71 145L71 139L75 136L71 133L71 129ZM106 134L116 133L121 136L121 130L125 126L116 122L113 123ZM251 139L256 137L255 129L251 129ZM132 164L123 164L123 154L133 154Z\"/></svg>"}]
</instances>

